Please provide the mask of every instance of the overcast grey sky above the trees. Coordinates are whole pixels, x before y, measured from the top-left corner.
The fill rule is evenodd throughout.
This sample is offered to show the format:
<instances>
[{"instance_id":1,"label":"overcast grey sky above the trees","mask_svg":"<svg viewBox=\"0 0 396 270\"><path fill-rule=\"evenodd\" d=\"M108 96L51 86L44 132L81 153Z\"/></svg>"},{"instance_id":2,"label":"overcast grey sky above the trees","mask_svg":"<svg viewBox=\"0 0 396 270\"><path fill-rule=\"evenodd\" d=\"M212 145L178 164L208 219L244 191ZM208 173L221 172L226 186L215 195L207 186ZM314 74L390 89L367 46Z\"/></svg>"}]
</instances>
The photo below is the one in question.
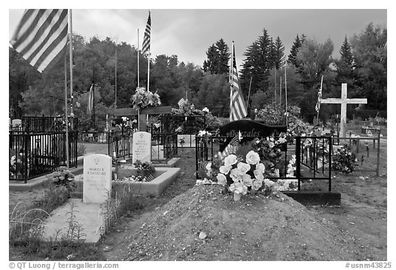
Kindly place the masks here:
<instances>
[{"instance_id":1,"label":"overcast grey sky above the trees","mask_svg":"<svg viewBox=\"0 0 396 270\"><path fill-rule=\"evenodd\" d=\"M153 8L154 7L154 8ZM151 7L151 55L177 55L179 61L202 66L206 51L213 43L223 38L230 47L235 44L236 64L242 65L243 53L252 45L265 28L272 38L279 36L285 45L285 55L296 35L324 43L330 38L334 44L333 58L344 40L359 34L366 25L374 23L387 27L386 9L329 10L329 9L156 9ZM161 6L159 6L161 8ZM210 6L208 6L210 8ZM9 10L9 36L12 36L23 10ZM87 40L98 36L100 40L109 36L142 47L148 8L143 9L78 9L74 8L73 32ZM10 39L10 38L9 38Z\"/></svg>"}]
</instances>

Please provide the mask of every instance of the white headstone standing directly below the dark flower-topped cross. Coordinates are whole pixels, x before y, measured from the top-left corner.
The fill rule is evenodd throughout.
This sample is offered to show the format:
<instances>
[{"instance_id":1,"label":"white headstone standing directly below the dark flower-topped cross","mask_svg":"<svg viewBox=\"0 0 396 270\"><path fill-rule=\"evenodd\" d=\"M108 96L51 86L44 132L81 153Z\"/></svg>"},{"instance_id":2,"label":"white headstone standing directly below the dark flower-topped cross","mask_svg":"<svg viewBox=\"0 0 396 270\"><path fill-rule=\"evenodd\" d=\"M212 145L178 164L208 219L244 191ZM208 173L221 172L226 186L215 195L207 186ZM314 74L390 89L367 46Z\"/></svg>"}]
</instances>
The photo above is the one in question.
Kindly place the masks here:
<instances>
[{"instance_id":1,"label":"white headstone standing directly below the dark flower-topped cross","mask_svg":"<svg viewBox=\"0 0 396 270\"><path fill-rule=\"evenodd\" d=\"M132 164L135 161L151 162L151 134L139 131L133 133Z\"/></svg>"}]
</instances>

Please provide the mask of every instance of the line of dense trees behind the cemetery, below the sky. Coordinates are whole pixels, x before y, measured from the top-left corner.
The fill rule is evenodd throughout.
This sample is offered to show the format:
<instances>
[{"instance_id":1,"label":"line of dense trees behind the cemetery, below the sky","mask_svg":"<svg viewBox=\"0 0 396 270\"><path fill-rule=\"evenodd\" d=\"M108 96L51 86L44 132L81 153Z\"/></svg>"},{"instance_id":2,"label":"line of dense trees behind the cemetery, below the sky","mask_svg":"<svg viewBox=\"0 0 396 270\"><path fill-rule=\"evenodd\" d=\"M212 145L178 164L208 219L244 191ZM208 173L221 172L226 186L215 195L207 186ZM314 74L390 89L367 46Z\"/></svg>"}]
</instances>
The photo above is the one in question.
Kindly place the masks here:
<instances>
[{"instance_id":1,"label":"line of dense trees behind the cemetery, below the sky","mask_svg":"<svg viewBox=\"0 0 396 270\"><path fill-rule=\"evenodd\" d=\"M323 98L340 97L341 83L347 82L349 98L367 98L364 109L386 111L386 46L386 29L369 23L359 34L344 36L339 59L332 57L334 45L330 39L318 43L305 34L296 35L286 55L281 38L273 38L263 29L245 50L239 74L243 97L249 97L248 110L260 109L269 102L285 104L287 84L287 102L299 106L302 116L311 122L316 116L314 108L323 76ZM138 84L146 87L148 59L133 45L117 44L111 38L100 41L96 36L85 41L73 34L73 54L73 106L80 120L90 123L92 118L87 112L92 83L96 85L96 117L101 120L111 115L115 105L132 106L131 95ZM178 100L187 97L197 108L206 106L213 115L227 117L230 55L230 48L219 38L208 47L202 67L179 62L176 55L155 56L149 62L150 90L159 94L164 105L177 107ZM65 61L66 65L60 61L53 69L39 74L10 47L10 116L63 114L68 57ZM67 75L67 85L69 79ZM358 115L359 109L348 111ZM320 117L327 119L338 112L337 105L329 104L322 106Z\"/></svg>"}]
</instances>

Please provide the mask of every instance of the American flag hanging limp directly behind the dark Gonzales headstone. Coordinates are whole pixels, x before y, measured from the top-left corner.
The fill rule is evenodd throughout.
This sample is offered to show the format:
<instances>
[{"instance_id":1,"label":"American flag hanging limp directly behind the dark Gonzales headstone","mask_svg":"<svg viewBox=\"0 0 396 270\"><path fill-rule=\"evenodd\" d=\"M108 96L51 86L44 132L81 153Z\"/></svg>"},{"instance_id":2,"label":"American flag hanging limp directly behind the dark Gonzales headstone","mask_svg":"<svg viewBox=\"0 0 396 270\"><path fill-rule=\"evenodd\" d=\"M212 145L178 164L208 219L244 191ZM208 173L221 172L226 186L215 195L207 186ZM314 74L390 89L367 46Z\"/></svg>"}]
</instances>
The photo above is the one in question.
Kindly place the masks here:
<instances>
[{"instance_id":1,"label":"American flag hanging limp directly behind the dark Gonzales headstone","mask_svg":"<svg viewBox=\"0 0 396 270\"><path fill-rule=\"evenodd\" d=\"M230 74L230 121L241 120L248 115L248 110L243 100L241 87L239 87L238 71L236 69L234 42L232 42L232 67Z\"/></svg>"}]
</instances>

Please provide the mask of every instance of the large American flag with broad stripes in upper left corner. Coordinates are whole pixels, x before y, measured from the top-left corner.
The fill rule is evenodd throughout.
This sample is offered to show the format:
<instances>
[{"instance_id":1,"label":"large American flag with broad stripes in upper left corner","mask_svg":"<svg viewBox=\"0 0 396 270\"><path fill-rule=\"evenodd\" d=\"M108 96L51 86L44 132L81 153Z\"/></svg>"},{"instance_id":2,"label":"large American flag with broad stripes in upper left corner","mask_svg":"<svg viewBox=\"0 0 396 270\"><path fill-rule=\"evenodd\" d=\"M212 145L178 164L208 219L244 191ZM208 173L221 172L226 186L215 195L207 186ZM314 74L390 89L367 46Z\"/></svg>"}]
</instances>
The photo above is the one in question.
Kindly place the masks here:
<instances>
[{"instance_id":1,"label":"large American flag with broad stripes in upper left corner","mask_svg":"<svg viewBox=\"0 0 396 270\"><path fill-rule=\"evenodd\" d=\"M42 72L65 53L67 19L67 10L25 10L10 44Z\"/></svg>"}]
</instances>

